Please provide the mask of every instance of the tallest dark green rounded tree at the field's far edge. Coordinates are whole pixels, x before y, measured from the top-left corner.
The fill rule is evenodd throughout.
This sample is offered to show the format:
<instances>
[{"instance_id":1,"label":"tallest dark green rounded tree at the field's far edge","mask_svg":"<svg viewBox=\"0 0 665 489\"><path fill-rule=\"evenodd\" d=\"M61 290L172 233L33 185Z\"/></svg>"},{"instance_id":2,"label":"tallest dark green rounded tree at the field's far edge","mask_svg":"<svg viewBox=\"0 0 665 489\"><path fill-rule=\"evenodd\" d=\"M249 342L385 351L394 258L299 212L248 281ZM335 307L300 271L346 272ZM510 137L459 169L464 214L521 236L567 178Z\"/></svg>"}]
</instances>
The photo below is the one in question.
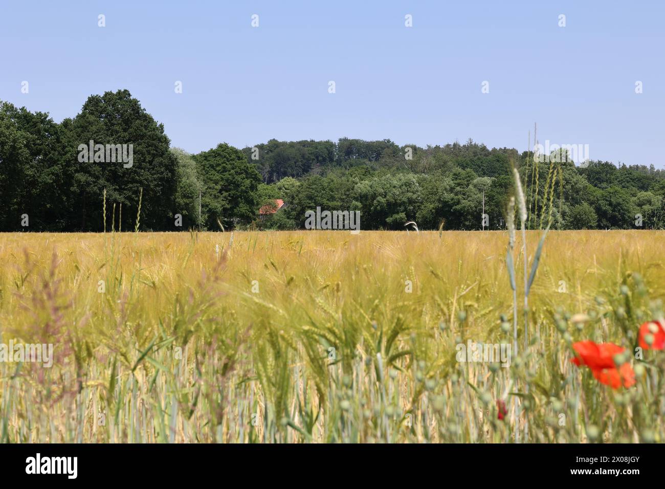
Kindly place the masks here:
<instances>
[{"instance_id":1,"label":"tallest dark green rounded tree at the field's far edge","mask_svg":"<svg viewBox=\"0 0 665 489\"><path fill-rule=\"evenodd\" d=\"M72 120L66 119L66 162L73 169L68 183L71 211L68 226L77 230L102 229L100 204L106 189L108 202L122 204L123 226L134 228L140 189L144 189L141 224L144 229L173 229L178 161L169 150L164 125L152 118L128 90L88 97ZM122 162L79 162L78 146L132 144L133 165ZM110 209L109 209L110 210Z\"/></svg>"}]
</instances>

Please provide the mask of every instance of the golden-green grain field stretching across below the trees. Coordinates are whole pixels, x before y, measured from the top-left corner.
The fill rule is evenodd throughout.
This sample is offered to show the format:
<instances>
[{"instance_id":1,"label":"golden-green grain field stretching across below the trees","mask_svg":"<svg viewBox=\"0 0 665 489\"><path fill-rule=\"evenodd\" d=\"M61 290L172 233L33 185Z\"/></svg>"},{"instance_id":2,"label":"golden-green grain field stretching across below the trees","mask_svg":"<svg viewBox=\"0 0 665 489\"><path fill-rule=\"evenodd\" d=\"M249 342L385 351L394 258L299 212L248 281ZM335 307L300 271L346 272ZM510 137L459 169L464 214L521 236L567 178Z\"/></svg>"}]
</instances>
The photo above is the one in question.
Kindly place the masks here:
<instances>
[{"instance_id":1,"label":"golden-green grain field stretching across below the trees","mask_svg":"<svg viewBox=\"0 0 665 489\"><path fill-rule=\"evenodd\" d=\"M662 238L549 232L505 368L456 353L513 344L506 232L0 234L0 343L53 344L0 363L0 440L660 442L664 352L612 389L571 345L634 350Z\"/></svg>"}]
</instances>

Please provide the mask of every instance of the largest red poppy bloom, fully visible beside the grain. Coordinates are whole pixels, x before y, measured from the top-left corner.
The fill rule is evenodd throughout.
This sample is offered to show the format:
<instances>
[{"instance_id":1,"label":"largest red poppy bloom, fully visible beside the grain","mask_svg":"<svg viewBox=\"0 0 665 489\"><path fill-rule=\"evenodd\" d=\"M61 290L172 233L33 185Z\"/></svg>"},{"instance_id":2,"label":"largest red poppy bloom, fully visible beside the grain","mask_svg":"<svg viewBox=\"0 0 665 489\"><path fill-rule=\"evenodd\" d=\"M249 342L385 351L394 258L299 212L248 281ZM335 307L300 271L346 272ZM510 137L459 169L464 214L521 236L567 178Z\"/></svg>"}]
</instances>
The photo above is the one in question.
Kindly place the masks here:
<instances>
[{"instance_id":1,"label":"largest red poppy bloom, fully visible beside the grain","mask_svg":"<svg viewBox=\"0 0 665 489\"><path fill-rule=\"evenodd\" d=\"M630 387L635 383L635 373L630 363L624 363L616 368L614 355L622 353L624 349L614 343L594 343L593 341L579 341L573 343L577 357L571 361L575 365L587 365L593 376L604 385L618 389L623 384Z\"/></svg>"}]
</instances>

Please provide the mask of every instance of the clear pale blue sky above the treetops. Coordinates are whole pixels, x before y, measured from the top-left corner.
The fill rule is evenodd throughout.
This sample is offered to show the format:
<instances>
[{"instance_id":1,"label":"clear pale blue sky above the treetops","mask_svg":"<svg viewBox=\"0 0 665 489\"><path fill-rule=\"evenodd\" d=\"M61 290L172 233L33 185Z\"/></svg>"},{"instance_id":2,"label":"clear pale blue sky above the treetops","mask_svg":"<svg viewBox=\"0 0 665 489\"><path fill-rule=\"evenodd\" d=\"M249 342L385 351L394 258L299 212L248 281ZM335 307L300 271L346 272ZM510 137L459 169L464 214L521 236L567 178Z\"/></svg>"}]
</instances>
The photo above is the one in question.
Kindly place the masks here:
<instances>
[{"instance_id":1,"label":"clear pale blue sky above the treetops","mask_svg":"<svg viewBox=\"0 0 665 489\"><path fill-rule=\"evenodd\" d=\"M342 136L524 150L537 122L543 144L664 168L664 25L665 1L0 0L0 99L60 121L127 88L189 152Z\"/></svg>"}]
</instances>

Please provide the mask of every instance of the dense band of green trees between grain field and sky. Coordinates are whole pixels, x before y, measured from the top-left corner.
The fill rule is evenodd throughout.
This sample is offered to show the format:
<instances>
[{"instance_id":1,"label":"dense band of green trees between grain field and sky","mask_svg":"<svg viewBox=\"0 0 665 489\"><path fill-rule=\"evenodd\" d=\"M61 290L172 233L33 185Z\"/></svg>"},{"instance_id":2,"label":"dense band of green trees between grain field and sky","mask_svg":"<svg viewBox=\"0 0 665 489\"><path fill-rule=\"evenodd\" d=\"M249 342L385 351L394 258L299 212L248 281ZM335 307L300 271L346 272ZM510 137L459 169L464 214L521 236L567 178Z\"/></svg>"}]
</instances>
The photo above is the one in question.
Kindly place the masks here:
<instances>
[{"instance_id":1,"label":"dense band of green trees between grain field and sky","mask_svg":"<svg viewBox=\"0 0 665 489\"><path fill-rule=\"evenodd\" d=\"M121 144L132 146L132 163L119 152L108 159L108 146ZM94 157L85 159L88 145ZM530 228L665 227L664 170L576 165L561 150L537 160L471 139L426 148L387 139L269 140L188 154L170 146L164 126L128 90L90 96L61 123L0 101L0 231L288 230L303 228L317 206L360 211L362 230L405 230L411 220L420 230L497 230L513 167ZM285 206L260 216L276 199Z\"/></svg>"}]
</instances>

